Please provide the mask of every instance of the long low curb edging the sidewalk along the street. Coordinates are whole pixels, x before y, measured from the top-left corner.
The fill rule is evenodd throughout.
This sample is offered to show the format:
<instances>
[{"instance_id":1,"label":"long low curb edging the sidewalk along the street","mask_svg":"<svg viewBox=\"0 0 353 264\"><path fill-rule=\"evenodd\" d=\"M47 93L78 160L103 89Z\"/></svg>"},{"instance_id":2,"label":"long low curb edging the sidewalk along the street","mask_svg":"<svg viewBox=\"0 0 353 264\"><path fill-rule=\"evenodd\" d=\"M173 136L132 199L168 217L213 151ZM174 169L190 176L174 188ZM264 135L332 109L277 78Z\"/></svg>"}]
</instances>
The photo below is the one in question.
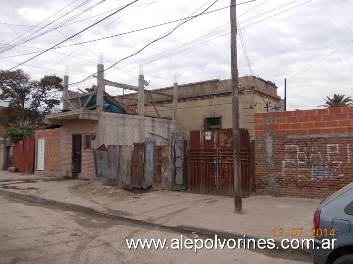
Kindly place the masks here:
<instances>
[{"instance_id":1,"label":"long low curb edging the sidewalk along the street","mask_svg":"<svg viewBox=\"0 0 353 264\"><path fill-rule=\"evenodd\" d=\"M164 225L164 224L152 223L152 222L148 222L146 220L138 220L138 219L128 218L128 217L124 217L124 216L100 212L100 211L97 211L91 207L86 207L86 206L82 206L79 204L61 202L61 201L56 201L56 200L52 200L52 199L41 198L41 197L34 196L34 195L21 194L21 193L16 193L16 192L11 192L11 191L0 190L0 194L9 195L9 196L13 196L16 198L37 201L37 202L46 203L46 204L50 204L50 205L56 205L56 206L60 206L60 207L66 207L66 208L70 208L73 210L79 210L79 211L84 211L84 212L89 212L89 213L101 215L104 217L114 218L114 219L118 219L118 220L122 220L122 221L128 221L131 223L147 225L147 226L151 226L151 227L157 227L157 228L161 228L161 229L167 229L167 230L172 230L172 231L177 231L177 232L182 232L182 233L191 234L191 232L197 232L200 235L210 236L212 238L217 236L218 238L222 238L222 239L225 238L225 239L235 239L235 240L244 239L244 238L245 239L254 239L255 241L258 241L259 239L265 239L265 240L268 239L268 238L261 238L261 237L256 237L256 236L252 236L252 235L230 233L230 232L225 232L225 231L221 231L221 230L195 227L195 226L187 226L187 225L169 226L169 225ZM289 245L289 243L283 243L283 244L285 246ZM253 245L253 244L251 243L251 245ZM288 253L288 252L301 252L303 254L311 254L310 249L301 249L301 248L283 249L281 241L276 240L276 239L274 239L274 245L275 245L274 249L265 249L265 250L269 250L269 251L277 250L277 251L284 251L286 253Z\"/></svg>"}]
</instances>

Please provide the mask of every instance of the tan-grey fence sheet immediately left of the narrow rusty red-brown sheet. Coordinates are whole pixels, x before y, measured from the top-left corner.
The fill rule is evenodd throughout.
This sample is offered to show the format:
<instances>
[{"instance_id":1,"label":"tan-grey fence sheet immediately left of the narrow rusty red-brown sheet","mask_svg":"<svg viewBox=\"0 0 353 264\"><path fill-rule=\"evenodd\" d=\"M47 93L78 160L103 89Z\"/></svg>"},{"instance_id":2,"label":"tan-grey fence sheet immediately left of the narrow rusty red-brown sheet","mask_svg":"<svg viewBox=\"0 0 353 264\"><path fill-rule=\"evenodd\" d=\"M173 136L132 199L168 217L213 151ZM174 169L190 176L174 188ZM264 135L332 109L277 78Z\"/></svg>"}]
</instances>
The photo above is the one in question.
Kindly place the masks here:
<instances>
[{"instance_id":1,"label":"tan-grey fence sheet immediately left of the narrow rusty red-brown sheet","mask_svg":"<svg viewBox=\"0 0 353 264\"><path fill-rule=\"evenodd\" d=\"M131 165L132 165L133 146L119 146L119 169L118 181L130 184L131 183Z\"/></svg>"}]
</instances>

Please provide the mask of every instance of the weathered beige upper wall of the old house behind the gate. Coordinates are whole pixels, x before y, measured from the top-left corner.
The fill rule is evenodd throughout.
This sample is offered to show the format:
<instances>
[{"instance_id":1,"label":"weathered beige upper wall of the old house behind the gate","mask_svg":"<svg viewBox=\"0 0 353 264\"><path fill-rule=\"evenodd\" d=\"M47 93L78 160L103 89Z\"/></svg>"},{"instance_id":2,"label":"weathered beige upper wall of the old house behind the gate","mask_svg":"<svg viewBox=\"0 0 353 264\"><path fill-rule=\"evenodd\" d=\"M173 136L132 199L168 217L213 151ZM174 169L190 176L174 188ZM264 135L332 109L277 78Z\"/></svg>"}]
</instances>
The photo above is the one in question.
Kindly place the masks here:
<instances>
[{"instance_id":1,"label":"weathered beige upper wall of the old house behind the gate","mask_svg":"<svg viewBox=\"0 0 353 264\"><path fill-rule=\"evenodd\" d=\"M240 77L239 84L240 127L248 129L251 139L255 139L254 114L266 112L267 101L271 102L271 108L278 106L280 97L277 96L277 87L261 78ZM259 88L249 89L255 86ZM159 89L159 91L173 94L173 87ZM128 98L137 97L136 94L128 94L119 96L119 101L126 105L137 104L136 101ZM145 94L145 102L152 104L152 101L161 117L173 117L172 99L156 94L151 94L149 98ZM145 105L145 115L157 116L155 107ZM232 128L231 79L178 85L177 130L179 132L184 132L187 137L187 131L202 130L204 119L212 117L221 117L222 129Z\"/></svg>"}]
</instances>

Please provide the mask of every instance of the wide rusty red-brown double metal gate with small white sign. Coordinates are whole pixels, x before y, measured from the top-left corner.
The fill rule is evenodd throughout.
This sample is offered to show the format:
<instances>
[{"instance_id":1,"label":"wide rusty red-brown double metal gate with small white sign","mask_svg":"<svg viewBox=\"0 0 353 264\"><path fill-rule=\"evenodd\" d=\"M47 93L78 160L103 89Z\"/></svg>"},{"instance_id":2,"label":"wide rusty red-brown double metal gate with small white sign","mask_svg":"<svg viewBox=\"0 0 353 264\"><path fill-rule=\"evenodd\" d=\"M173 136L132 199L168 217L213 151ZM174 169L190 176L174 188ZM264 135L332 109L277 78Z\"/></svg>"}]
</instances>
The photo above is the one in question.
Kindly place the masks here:
<instances>
[{"instance_id":1,"label":"wide rusty red-brown double metal gate with small white sign","mask_svg":"<svg viewBox=\"0 0 353 264\"><path fill-rule=\"evenodd\" d=\"M234 195L232 129L190 131L187 142L187 189L195 193ZM251 195L249 132L240 130L242 194Z\"/></svg>"}]
</instances>

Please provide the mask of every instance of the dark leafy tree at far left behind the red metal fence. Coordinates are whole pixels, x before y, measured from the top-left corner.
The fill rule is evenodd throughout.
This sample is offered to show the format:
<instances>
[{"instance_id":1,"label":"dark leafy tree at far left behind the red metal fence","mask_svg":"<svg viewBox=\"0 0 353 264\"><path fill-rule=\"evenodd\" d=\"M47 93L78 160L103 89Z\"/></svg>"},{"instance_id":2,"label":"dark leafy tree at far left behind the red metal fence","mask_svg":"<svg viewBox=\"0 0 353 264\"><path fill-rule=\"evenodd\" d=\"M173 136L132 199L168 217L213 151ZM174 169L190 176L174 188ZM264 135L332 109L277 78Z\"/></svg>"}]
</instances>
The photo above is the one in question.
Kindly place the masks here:
<instances>
[{"instance_id":1,"label":"dark leafy tree at far left behind the red metal fence","mask_svg":"<svg viewBox=\"0 0 353 264\"><path fill-rule=\"evenodd\" d=\"M42 126L44 117L60 104L62 81L56 75L45 75L37 81L21 69L0 70L0 99L9 102L0 123L5 127L11 123Z\"/></svg>"}]
</instances>

